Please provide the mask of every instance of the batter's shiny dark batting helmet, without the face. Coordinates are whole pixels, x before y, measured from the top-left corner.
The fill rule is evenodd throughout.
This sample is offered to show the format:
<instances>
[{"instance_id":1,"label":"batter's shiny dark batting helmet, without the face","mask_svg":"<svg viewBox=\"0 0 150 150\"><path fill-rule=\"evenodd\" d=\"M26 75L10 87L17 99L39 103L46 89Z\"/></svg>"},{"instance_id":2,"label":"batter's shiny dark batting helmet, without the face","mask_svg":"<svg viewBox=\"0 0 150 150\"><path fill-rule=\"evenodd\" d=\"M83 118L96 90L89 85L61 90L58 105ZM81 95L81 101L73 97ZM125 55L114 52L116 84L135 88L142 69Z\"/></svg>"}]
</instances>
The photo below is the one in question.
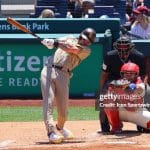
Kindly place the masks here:
<instances>
[{"instance_id":1,"label":"batter's shiny dark batting helmet, without the face","mask_svg":"<svg viewBox=\"0 0 150 150\"><path fill-rule=\"evenodd\" d=\"M80 38L87 39L93 43L96 38L96 31L92 28L86 28L81 32Z\"/></svg>"}]
</instances>

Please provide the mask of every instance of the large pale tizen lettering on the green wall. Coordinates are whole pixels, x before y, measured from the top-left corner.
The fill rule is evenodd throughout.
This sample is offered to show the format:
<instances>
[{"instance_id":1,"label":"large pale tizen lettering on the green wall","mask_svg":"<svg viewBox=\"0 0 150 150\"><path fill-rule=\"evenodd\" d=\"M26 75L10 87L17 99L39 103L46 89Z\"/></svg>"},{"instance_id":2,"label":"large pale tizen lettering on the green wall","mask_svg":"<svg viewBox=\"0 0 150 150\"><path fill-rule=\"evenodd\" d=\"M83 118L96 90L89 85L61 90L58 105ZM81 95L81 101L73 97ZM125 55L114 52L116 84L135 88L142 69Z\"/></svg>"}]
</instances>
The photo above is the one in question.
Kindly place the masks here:
<instances>
[{"instance_id":1,"label":"large pale tizen lettering on the green wall","mask_svg":"<svg viewBox=\"0 0 150 150\"><path fill-rule=\"evenodd\" d=\"M16 56L14 53L12 55L12 51L7 51L6 56L0 53L0 72L39 72L47 58L43 56L41 60L38 56Z\"/></svg>"}]
</instances>

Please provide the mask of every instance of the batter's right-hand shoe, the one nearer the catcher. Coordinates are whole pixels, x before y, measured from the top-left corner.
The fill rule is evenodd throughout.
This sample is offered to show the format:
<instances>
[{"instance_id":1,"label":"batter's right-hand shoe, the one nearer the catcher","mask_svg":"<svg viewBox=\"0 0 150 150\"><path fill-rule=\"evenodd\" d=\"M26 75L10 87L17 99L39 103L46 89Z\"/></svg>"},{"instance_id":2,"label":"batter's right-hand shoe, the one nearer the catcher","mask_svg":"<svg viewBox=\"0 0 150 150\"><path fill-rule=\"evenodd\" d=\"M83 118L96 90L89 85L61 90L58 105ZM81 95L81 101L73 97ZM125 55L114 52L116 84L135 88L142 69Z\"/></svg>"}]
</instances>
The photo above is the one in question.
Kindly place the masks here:
<instances>
[{"instance_id":1,"label":"batter's right-hand shoe, the one nearer the catcher","mask_svg":"<svg viewBox=\"0 0 150 150\"><path fill-rule=\"evenodd\" d=\"M74 138L74 135L71 131L69 131L66 128L63 128L62 130L59 130L59 132L63 135L64 140L71 140Z\"/></svg>"}]
</instances>

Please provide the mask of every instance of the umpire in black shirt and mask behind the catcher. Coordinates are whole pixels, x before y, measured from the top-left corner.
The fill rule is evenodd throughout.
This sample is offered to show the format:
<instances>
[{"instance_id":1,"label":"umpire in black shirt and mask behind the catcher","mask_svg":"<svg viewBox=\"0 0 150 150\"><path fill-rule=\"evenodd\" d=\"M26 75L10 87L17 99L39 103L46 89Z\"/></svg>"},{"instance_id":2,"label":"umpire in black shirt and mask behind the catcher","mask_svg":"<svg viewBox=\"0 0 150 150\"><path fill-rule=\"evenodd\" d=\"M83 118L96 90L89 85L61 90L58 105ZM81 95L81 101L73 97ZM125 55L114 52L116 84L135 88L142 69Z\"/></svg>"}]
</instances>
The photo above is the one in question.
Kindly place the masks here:
<instances>
[{"instance_id":1,"label":"umpire in black shirt and mask behind the catcher","mask_svg":"<svg viewBox=\"0 0 150 150\"><path fill-rule=\"evenodd\" d=\"M145 59L144 55L135 49L135 45L131 40L122 36L116 40L113 44L114 50L107 52L104 57L102 65L102 76L100 80L100 93L105 94L108 89L108 84L112 80L118 80L120 76L120 68L124 63L133 62L140 68L140 76L144 80L145 78ZM106 113L103 107L100 108L99 120L101 132L103 134L110 132L110 125ZM142 131L142 127L137 127L139 131Z\"/></svg>"}]
</instances>

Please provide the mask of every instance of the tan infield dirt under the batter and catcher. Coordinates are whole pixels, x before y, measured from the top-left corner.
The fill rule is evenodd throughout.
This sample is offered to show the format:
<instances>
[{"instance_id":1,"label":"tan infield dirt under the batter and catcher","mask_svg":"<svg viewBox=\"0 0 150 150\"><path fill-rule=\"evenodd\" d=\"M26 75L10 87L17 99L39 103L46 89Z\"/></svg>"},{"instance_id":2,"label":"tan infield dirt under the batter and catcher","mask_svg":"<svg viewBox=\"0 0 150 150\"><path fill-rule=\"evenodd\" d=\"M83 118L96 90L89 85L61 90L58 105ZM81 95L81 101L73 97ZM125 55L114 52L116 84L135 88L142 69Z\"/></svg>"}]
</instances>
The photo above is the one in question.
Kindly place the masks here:
<instances>
[{"instance_id":1,"label":"tan infield dirt under the batter and catcher","mask_svg":"<svg viewBox=\"0 0 150 150\"><path fill-rule=\"evenodd\" d=\"M14 102L14 101L13 101ZM9 104L8 104L9 103ZM18 103L21 103L18 101ZM25 101L24 101L25 103ZM34 101L35 103L35 101ZM79 101L78 101L79 103ZM82 102L83 103L83 102ZM28 103L29 104L29 103ZM41 102L38 103L41 105ZM85 101L84 101L85 104ZM88 106L93 105L87 101ZM0 104L2 106L2 104ZM6 105L6 102L5 102ZM7 101L7 106L13 106ZM15 105L15 104L14 104ZM35 104L34 104L35 105ZM37 104L36 104L37 105ZM72 105L75 105L72 103ZM3 101L4 106L4 101ZM150 134L136 132L136 126L124 123L120 135L98 134L99 120L68 121L66 127L75 138L62 144L49 144L43 122L0 123L0 150L149 150Z\"/></svg>"}]
</instances>

